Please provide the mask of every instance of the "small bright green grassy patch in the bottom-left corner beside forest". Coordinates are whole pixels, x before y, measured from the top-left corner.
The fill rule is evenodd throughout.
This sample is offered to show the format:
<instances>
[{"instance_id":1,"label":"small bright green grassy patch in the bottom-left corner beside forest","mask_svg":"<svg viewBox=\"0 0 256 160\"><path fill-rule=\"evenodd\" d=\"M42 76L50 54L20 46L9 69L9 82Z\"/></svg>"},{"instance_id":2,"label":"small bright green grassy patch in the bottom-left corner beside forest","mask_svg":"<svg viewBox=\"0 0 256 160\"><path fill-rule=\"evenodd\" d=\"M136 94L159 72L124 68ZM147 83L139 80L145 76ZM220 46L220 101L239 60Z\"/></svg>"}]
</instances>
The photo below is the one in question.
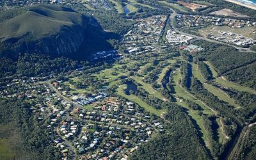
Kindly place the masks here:
<instances>
[{"instance_id":1,"label":"small bright green grassy patch in the bottom-left corner beside forest","mask_svg":"<svg viewBox=\"0 0 256 160\"><path fill-rule=\"evenodd\" d=\"M15 159L15 152L13 152L13 150L10 150L10 148L8 147L8 140L5 138L0 139L0 159Z\"/></svg>"}]
</instances>

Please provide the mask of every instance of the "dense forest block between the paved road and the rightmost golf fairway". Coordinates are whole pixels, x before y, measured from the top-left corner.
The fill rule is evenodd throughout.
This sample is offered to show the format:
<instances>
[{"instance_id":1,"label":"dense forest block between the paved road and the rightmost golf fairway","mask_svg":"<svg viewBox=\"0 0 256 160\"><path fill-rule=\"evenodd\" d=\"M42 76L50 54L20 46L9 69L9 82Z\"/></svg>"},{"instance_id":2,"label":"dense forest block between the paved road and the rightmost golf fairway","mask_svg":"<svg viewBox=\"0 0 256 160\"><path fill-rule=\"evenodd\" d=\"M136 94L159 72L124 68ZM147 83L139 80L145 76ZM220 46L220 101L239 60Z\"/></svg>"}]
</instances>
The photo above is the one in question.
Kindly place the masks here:
<instances>
[{"instance_id":1,"label":"dense forest block between the paved road and the rightmost golf fairway","mask_svg":"<svg viewBox=\"0 0 256 160\"><path fill-rule=\"evenodd\" d=\"M256 88L255 52L239 52L233 47L204 40L195 44L204 47L204 51L195 54L196 60L210 61L218 73L227 76L229 81Z\"/></svg>"}]
</instances>

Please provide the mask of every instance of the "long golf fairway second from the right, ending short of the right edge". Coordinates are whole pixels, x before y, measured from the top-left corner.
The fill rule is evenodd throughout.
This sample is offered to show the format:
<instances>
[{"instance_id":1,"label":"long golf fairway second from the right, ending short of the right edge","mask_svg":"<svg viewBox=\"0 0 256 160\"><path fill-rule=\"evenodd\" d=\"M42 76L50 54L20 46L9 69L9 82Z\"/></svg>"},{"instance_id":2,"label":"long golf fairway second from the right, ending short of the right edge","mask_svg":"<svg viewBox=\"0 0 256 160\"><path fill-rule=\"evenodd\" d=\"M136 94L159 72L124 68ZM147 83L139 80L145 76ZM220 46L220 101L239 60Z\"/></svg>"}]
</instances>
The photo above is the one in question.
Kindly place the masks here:
<instances>
[{"instance_id":1,"label":"long golf fairway second from the right, ending short of the right edge","mask_svg":"<svg viewBox=\"0 0 256 160\"><path fill-rule=\"evenodd\" d=\"M219 88L216 88L211 84L207 84L206 83L207 81L204 79L204 77L200 73L200 70L196 64L193 64L193 75L196 79L198 79L199 81L201 81L201 83L203 83L204 88L206 88L208 92L211 92L212 94L217 96L218 99L223 100L236 108L241 108L241 106L236 104L234 99L230 98L226 93L222 92Z\"/></svg>"}]
</instances>

